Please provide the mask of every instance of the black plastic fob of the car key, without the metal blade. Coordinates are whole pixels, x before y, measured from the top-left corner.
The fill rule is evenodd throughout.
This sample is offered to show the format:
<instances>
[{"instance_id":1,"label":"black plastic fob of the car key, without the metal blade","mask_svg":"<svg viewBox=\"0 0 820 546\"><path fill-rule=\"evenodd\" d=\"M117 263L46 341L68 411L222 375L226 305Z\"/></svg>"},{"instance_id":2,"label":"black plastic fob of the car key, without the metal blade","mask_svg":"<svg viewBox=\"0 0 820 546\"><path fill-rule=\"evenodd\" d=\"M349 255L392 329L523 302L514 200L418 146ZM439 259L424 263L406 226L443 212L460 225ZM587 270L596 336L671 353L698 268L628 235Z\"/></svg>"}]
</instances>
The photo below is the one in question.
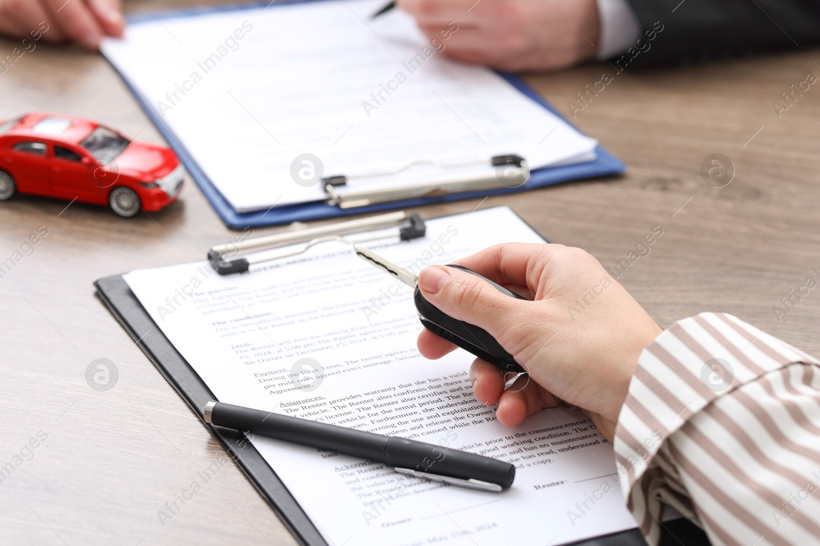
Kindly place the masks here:
<instances>
[{"instance_id":1,"label":"black plastic fob of the car key, without the metal blade","mask_svg":"<svg viewBox=\"0 0 820 546\"><path fill-rule=\"evenodd\" d=\"M516 298L517 300L526 299L461 265L448 265L447 267L461 269L471 275L475 275L477 278L489 282L496 290L506 296ZM463 350L475 354L478 358L495 364L504 372L524 372L524 368L518 365L515 359L512 358L512 354L504 350L503 347L499 345L499 342L495 341L495 338L490 336L486 330L456 320L448 314L442 313L438 308L431 305L429 301L425 300L424 296L421 296L421 290L419 290L418 285L413 294L413 300L416 302L416 309L418 311L418 318L421 320L421 325L430 330L430 332L433 332L436 336L443 337L445 340L453 343L453 345L458 345Z\"/></svg>"}]
</instances>

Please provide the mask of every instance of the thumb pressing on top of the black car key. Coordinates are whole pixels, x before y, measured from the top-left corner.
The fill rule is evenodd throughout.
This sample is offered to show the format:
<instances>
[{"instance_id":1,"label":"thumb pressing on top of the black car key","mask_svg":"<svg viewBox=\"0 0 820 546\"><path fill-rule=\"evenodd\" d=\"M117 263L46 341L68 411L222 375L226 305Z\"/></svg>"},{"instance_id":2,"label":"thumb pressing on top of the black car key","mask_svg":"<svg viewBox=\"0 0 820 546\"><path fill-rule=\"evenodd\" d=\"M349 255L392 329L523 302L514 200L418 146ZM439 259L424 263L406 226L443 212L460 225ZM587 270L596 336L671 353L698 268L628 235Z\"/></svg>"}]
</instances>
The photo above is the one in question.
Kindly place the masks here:
<instances>
[{"instance_id":1,"label":"thumb pressing on top of the black car key","mask_svg":"<svg viewBox=\"0 0 820 546\"><path fill-rule=\"evenodd\" d=\"M485 329L511 354L508 337L514 323L530 314L525 300L499 292L490 282L457 268L430 265L421 270L418 286L424 299L444 314ZM517 345L513 343L512 345Z\"/></svg>"}]
</instances>

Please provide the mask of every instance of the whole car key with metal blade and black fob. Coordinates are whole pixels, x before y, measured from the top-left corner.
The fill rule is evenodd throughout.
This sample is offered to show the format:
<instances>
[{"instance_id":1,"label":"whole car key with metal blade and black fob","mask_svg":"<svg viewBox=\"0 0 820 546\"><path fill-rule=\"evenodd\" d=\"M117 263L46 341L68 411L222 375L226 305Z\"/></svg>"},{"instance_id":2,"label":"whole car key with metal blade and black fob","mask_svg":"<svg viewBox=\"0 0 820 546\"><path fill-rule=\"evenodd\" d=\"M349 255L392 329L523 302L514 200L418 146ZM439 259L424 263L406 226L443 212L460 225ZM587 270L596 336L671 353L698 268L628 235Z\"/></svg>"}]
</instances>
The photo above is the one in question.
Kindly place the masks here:
<instances>
[{"instance_id":1,"label":"whole car key with metal blade and black fob","mask_svg":"<svg viewBox=\"0 0 820 546\"><path fill-rule=\"evenodd\" d=\"M425 300L424 296L421 296L421 290L418 287L417 275L414 275L408 269L394 264L389 259L383 258L373 250L365 248L362 245L353 245L353 249L356 250L356 255L358 255L359 258L367 260L377 268L389 273L394 278L398 278L399 281L413 289L413 300L416 303L418 318L421 320L421 325L430 330L430 332L443 337L445 340L453 343L453 345L458 345L471 354L475 354L478 358L494 364L505 372L524 372L524 368L512 358L512 354L504 350L503 347L499 345L499 342L495 341L495 338L490 336L486 330L450 317L448 314L444 314L440 309L430 304L429 301ZM505 296L510 296L518 300L526 299L461 265L447 265L445 267L461 269L464 272L475 275L477 278L489 282L490 285Z\"/></svg>"}]
</instances>

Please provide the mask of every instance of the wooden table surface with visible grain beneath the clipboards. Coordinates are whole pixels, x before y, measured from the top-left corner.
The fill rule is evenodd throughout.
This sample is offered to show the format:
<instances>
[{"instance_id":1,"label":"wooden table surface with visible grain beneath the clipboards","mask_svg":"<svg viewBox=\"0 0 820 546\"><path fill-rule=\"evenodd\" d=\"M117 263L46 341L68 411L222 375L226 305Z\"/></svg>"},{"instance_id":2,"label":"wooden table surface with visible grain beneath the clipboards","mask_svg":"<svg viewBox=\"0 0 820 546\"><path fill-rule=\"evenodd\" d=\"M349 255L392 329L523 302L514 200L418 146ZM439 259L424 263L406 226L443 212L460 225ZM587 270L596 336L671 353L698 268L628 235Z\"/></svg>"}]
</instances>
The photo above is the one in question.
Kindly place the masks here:
<instances>
[{"instance_id":1,"label":"wooden table surface with visible grain beneath the clipboards","mask_svg":"<svg viewBox=\"0 0 820 546\"><path fill-rule=\"evenodd\" d=\"M131 2L132 11L171 2ZM185 2L174 2L183 5ZM189 2L194 3L194 2ZM0 40L0 52L15 42ZM614 74L585 65L527 80L560 111L613 75L572 121L629 165L622 178L563 184L481 204L509 205L552 241L613 266L655 226L663 237L620 281L659 324L703 310L736 314L820 353L820 290L778 321L772 308L807 277L820 280L820 88L777 116L772 102L818 73L820 51ZM103 58L39 44L0 76L0 118L66 112L162 142ZM546 129L545 133L546 134ZM704 183L704 158L736 174ZM436 216L480 200L421 207ZM0 203L0 261L41 226L33 255L0 278L0 467L38 433L33 458L0 483L8 544L294 544L235 465L225 467L163 526L157 511L220 457L221 446L94 294L92 282L134 268L202 259L233 232L198 188L157 214L17 196ZM274 232L281 228L257 230ZM110 359L112 390L85 380ZM43 432L39 432L43 431Z\"/></svg>"}]
</instances>

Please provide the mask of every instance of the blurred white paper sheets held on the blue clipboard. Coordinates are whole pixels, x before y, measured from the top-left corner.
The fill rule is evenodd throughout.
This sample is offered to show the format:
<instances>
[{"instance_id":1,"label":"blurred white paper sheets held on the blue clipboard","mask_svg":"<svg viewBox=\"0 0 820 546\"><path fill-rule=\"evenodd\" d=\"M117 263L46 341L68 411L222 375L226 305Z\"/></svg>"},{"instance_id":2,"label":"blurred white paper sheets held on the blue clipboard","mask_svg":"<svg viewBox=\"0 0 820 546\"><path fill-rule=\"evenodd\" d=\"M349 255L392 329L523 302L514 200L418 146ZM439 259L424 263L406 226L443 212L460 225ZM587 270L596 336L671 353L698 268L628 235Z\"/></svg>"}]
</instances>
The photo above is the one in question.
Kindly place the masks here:
<instances>
[{"instance_id":1,"label":"blurred white paper sheets held on the blue clipboard","mask_svg":"<svg viewBox=\"0 0 820 546\"><path fill-rule=\"evenodd\" d=\"M448 40L430 44L399 10L370 20L383 3L146 17L102 50L239 212L324 198L294 182L305 153L353 178L510 153L532 168L594 160L593 139L491 70L445 58Z\"/></svg>"}]
</instances>

